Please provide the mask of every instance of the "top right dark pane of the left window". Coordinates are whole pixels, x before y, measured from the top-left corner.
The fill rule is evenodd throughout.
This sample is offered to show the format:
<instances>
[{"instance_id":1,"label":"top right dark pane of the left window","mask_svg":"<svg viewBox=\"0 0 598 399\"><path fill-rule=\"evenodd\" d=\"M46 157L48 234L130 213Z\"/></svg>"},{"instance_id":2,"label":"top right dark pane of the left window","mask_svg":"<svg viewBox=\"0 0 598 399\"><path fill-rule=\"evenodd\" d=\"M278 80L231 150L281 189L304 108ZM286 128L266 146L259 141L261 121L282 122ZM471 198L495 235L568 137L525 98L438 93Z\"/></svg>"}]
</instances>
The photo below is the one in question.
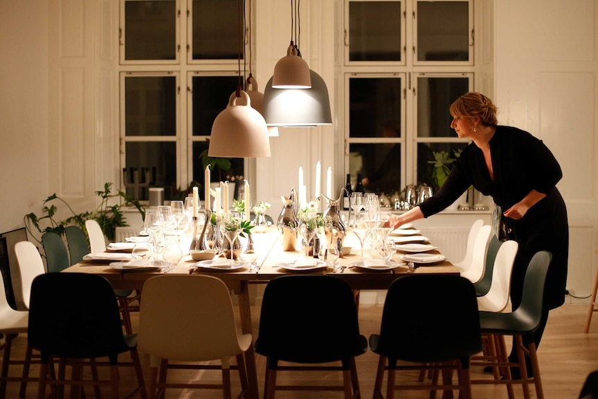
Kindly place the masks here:
<instances>
[{"instance_id":1,"label":"top right dark pane of the left window","mask_svg":"<svg viewBox=\"0 0 598 399\"><path fill-rule=\"evenodd\" d=\"M244 28L239 31L238 15L239 1L237 0L194 0L193 59L237 60L239 33L241 33L242 59Z\"/></svg>"}]
</instances>

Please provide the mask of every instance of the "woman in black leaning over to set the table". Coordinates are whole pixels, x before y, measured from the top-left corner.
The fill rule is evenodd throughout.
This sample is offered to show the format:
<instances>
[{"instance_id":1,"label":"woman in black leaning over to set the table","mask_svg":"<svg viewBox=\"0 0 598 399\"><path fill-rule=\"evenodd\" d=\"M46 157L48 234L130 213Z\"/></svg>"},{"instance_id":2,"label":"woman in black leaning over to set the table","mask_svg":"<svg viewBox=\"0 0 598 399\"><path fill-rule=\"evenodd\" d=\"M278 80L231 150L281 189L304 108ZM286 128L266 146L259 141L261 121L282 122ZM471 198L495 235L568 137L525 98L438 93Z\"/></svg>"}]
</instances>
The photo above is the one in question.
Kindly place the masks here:
<instances>
[{"instance_id":1,"label":"woman in black leaning over to set the table","mask_svg":"<svg viewBox=\"0 0 598 399\"><path fill-rule=\"evenodd\" d=\"M565 201L556 189L563 173L540 139L518 128L497 126L496 111L492 101L477 92L468 92L452 103L451 128L472 143L454 162L441 189L420 206L395 218L394 226L441 212L471 185L492 196L504 216L513 219L514 239L519 244L511 276L513 309L521 303L524 275L531 257L542 250L552 253L542 322L534 333L538 346L549 309L565 302L569 226ZM514 350L509 359L517 360Z\"/></svg>"}]
</instances>

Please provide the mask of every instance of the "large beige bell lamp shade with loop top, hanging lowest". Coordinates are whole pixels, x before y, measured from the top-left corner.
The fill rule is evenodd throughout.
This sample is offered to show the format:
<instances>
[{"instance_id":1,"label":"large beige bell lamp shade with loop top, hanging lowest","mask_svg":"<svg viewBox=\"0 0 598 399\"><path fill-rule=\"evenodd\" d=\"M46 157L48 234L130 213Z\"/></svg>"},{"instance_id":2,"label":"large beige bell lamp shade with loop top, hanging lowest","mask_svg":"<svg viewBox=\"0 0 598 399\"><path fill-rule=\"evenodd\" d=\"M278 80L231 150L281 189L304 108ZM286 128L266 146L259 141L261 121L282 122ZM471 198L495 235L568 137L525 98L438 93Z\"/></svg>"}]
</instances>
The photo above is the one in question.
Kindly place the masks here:
<instances>
[{"instance_id":1,"label":"large beige bell lamp shade with loop top, hanging lowest","mask_svg":"<svg viewBox=\"0 0 598 399\"><path fill-rule=\"evenodd\" d=\"M233 92L225 110L214 119L207 155L225 158L269 157L270 139L266 121L262 114L251 108L248 94L243 90L238 92L240 97ZM237 99L241 99L238 104Z\"/></svg>"}]
</instances>

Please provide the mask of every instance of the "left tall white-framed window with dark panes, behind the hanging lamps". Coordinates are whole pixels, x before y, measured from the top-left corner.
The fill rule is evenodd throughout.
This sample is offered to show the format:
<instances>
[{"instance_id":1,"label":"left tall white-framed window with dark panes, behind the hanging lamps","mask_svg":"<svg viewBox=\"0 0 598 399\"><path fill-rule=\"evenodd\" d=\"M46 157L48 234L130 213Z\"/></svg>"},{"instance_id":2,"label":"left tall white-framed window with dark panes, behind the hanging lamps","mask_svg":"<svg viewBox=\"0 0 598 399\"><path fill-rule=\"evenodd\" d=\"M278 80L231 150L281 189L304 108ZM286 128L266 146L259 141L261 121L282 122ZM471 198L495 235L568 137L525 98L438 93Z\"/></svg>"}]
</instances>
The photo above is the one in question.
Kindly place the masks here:
<instances>
[{"instance_id":1,"label":"left tall white-framed window with dark panes, behind the hanging lamps","mask_svg":"<svg viewBox=\"0 0 598 399\"><path fill-rule=\"evenodd\" d=\"M164 187L171 200L186 196L193 180L205 184L212 123L239 85L237 58L245 49L241 43L239 51L238 4L121 0L121 164L123 185L130 195L139 192L137 199L148 200L146 187ZM243 176L244 160L230 161L212 181Z\"/></svg>"}]
</instances>

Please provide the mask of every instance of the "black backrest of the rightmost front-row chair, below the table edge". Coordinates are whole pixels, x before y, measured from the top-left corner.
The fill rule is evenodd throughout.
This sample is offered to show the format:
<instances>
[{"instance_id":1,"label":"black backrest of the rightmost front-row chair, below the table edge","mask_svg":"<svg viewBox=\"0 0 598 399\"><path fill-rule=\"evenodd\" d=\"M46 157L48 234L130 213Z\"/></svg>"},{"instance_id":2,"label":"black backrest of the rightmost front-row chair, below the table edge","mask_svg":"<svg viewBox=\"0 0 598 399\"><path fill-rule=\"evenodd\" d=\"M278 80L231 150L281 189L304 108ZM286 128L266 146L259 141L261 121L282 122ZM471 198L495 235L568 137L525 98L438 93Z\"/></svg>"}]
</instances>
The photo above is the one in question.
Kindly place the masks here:
<instances>
[{"instance_id":1,"label":"black backrest of the rightmost front-row chair, below the table edge","mask_svg":"<svg viewBox=\"0 0 598 399\"><path fill-rule=\"evenodd\" d=\"M392 282L377 353L408 362L445 362L481 351L475 290L458 275L408 275Z\"/></svg>"}]
</instances>

